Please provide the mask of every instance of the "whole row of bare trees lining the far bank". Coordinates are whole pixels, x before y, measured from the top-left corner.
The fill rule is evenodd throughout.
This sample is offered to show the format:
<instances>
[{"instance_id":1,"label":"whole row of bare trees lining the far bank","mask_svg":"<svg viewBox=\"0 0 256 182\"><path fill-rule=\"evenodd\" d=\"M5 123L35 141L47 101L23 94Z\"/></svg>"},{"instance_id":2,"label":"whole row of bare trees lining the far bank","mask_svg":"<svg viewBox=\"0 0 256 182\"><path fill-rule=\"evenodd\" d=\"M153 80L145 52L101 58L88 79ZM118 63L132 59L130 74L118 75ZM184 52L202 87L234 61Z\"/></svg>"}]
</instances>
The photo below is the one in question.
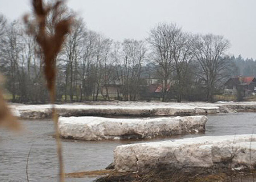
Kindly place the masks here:
<instances>
[{"instance_id":1,"label":"whole row of bare trees lining the far bank","mask_svg":"<svg viewBox=\"0 0 256 182\"><path fill-rule=\"evenodd\" d=\"M118 99L137 100L143 94L139 88L145 78L154 77L160 80L163 101L213 101L216 88L234 68L226 55L229 46L222 36L195 35L164 23L151 29L144 41L125 39L120 43L76 19L57 57L57 98L109 100L107 85L120 85ZM42 54L35 40L21 23L9 23L0 15L0 71L7 78L12 101L47 101L42 69Z\"/></svg>"}]
</instances>

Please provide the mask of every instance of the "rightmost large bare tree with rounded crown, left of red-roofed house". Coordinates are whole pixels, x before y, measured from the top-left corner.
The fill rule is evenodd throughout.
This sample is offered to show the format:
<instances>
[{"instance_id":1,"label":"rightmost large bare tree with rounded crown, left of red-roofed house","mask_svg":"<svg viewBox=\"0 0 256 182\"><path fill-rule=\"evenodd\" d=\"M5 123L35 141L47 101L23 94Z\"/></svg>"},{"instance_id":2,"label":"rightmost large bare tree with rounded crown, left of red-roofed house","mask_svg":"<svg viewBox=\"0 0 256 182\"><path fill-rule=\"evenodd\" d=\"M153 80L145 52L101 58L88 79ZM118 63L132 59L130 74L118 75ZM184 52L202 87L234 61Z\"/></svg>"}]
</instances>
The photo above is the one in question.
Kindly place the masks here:
<instances>
[{"instance_id":1,"label":"rightmost large bare tree with rounded crown, left of red-roofed house","mask_svg":"<svg viewBox=\"0 0 256 182\"><path fill-rule=\"evenodd\" d=\"M195 57L200 65L199 74L207 89L207 100L213 102L214 88L227 76L228 61L225 52L230 43L223 36L213 34L197 38Z\"/></svg>"}]
</instances>

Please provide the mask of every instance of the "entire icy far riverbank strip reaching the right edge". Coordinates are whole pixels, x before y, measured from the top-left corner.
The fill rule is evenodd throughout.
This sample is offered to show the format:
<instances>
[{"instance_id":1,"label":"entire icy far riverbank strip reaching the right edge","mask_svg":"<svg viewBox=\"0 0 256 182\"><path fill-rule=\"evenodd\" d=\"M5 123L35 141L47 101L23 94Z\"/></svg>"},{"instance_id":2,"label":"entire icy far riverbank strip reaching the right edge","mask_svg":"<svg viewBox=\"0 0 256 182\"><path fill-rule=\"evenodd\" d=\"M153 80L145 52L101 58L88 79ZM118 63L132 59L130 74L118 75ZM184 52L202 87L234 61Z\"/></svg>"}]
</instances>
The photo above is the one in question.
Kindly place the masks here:
<instances>
[{"instance_id":1,"label":"entire icy far riverbank strip reaching the right edge","mask_svg":"<svg viewBox=\"0 0 256 182\"><path fill-rule=\"evenodd\" d=\"M256 112L256 102L95 102L55 105L60 116L193 116L202 114ZM48 119L51 105L10 105L21 119Z\"/></svg>"}]
</instances>

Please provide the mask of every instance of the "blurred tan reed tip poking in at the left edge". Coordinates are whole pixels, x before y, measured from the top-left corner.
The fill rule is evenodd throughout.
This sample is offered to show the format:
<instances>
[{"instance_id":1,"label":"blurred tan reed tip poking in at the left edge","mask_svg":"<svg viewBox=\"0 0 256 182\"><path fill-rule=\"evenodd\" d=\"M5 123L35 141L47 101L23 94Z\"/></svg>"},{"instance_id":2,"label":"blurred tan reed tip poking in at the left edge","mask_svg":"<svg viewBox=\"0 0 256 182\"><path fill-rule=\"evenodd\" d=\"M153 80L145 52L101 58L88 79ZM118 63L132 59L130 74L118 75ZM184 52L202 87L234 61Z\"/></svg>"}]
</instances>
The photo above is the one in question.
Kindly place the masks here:
<instances>
[{"instance_id":1,"label":"blurred tan reed tip poking in at the left edge","mask_svg":"<svg viewBox=\"0 0 256 182\"><path fill-rule=\"evenodd\" d=\"M3 82L2 76L0 76L0 82ZM12 115L10 108L5 102L1 88L0 88L0 126L3 126L7 129L12 129L14 131L18 131L19 129L21 129L21 126L17 121L17 117Z\"/></svg>"}]
</instances>

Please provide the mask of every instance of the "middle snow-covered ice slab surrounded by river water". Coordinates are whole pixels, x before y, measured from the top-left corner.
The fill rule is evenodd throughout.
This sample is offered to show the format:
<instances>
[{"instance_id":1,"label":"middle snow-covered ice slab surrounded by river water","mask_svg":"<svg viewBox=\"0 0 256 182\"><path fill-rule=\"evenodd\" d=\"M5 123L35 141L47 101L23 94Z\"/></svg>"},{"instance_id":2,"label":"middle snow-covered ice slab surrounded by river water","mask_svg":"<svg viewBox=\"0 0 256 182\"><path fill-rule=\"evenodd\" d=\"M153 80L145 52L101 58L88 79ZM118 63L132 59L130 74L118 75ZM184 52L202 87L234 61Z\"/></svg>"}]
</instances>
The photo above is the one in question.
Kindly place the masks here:
<instances>
[{"instance_id":1,"label":"middle snow-covered ice slab surrounded by river water","mask_svg":"<svg viewBox=\"0 0 256 182\"><path fill-rule=\"evenodd\" d=\"M83 140L150 138L205 131L206 116L116 119L104 117L60 117L64 138Z\"/></svg>"}]
</instances>

